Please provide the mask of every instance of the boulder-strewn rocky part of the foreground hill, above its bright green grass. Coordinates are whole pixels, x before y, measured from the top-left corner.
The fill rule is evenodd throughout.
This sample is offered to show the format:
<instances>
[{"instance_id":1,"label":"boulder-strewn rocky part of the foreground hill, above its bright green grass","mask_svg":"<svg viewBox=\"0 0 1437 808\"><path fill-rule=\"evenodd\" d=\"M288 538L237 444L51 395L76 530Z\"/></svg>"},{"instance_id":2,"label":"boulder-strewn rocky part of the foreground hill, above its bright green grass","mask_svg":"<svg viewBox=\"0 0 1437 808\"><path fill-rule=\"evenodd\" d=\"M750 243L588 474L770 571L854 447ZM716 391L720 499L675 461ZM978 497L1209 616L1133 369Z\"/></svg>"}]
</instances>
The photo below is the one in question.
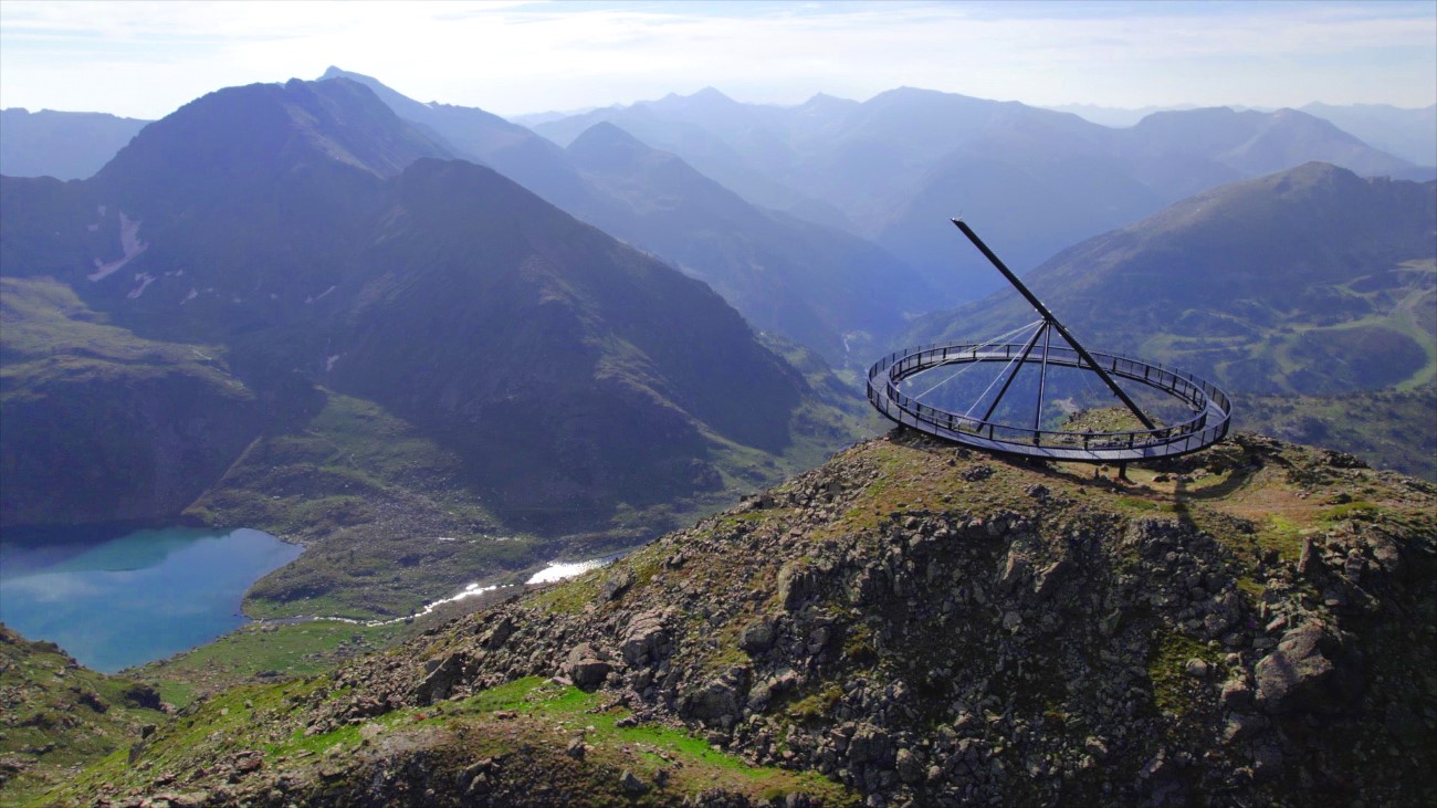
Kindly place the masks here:
<instances>
[{"instance_id":1,"label":"boulder-strewn rocky part of the foreground hill, above its bright green grass","mask_svg":"<svg viewBox=\"0 0 1437 808\"><path fill-rule=\"evenodd\" d=\"M349 664L308 720L420 704L443 660L470 654L445 680L458 704L572 681L625 710L616 726L681 726L871 805L1430 801L1433 625L1387 617L1437 611L1437 492L1256 439L1203 457L1213 490L1242 497L872 441L562 584L562 601L434 633L433 667ZM1381 505L1332 503L1358 489ZM1253 519L1279 500L1311 525L1306 572L1302 543ZM556 755L595 758L558 729ZM681 801L639 779L644 799Z\"/></svg>"}]
</instances>

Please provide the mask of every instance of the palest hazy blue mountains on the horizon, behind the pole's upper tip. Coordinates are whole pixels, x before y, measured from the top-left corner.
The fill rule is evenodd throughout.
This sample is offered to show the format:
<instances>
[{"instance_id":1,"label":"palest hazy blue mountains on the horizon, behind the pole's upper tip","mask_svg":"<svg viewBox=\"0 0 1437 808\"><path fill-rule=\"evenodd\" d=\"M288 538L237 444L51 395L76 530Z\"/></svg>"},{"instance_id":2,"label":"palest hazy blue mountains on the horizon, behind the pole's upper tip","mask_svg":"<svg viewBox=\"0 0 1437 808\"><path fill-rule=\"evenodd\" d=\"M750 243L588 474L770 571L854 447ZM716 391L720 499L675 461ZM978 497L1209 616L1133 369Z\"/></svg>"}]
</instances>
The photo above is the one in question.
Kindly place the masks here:
<instances>
[{"instance_id":1,"label":"palest hazy blue mountains on the horizon, behind the pole's upper tip","mask_svg":"<svg viewBox=\"0 0 1437 808\"><path fill-rule=\"evenodd\" d=\"M950 299L996 286L980 260L951 249L948 216L993 221L992 242L1023 270L1193 193L1312 160L1362 174L1431 173L1295 111L1161 112L1111 129L1017 102L914 88L793 108L706 89L535 129L565 144L598 121L684 157L750 200L874 239Z\"/></svg>"}]
</instances>

